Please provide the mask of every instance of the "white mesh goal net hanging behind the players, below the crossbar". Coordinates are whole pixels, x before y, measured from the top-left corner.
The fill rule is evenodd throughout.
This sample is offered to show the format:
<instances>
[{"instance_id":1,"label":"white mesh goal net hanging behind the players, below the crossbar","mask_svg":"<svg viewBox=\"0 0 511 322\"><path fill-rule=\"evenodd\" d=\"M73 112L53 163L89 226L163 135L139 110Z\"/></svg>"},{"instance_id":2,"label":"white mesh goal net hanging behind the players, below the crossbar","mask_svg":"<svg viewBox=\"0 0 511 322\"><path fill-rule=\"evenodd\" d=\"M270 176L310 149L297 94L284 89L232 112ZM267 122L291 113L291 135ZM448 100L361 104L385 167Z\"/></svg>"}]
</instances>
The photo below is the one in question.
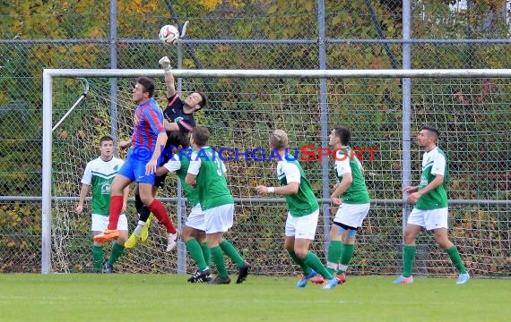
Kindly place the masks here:
<instances>
[{"instance_id":1,"label":"white mesh goal net hanging behind the players, below the crossbar","mask_svg":"<svg viewBox=\"0 0 511 322\"><path fill-rule=\"evenodd\" d=\"M136 74L145 74L139 71ZM152 71L154 72L154 71ZM77 76L77 75L74 75ZM92 272L90 203L76 214L84 166L99 156L100 137L117 132L128 140L135 105L131 100L134 77L117 77L117 97L111 96L111 78L87 77L87 97L55 131L51 141L51 272ZM156 76L156 75L154 75ZM207 76L207 75L206 75ZM159 74L156 97L165 108L165 85ZM334 177L325 173L318 149L326 147L327 135L336 125L351 129L351 147L361 154L365 177L373 200L368 218L357 234L351 275L395 275L402 267L403 141L411 140L411 183L420 177L421 151L415 137L423 124L442 133L439 146L446 151L449 233L473 275L509 275L509 169L511 83L509 78L413 78L411 89L411 138L403 138L403 96L398 78L343 77L326 80L322 106L320 80L299 77L196 77L184 78L182 97L192 90L204 91L208 105L195 114L197 125L212 133L212 147L226 148L230 190L237 200L235 225L227 238L247 258L255 274L294 275L298 267L283 250L287 214L283 199L262 200L257 184L276 185L272 161L268 161L269 133L282 129L290 136L290 151L299 150L300 164L322 202L316 242L312 249L325 259L329 225L336 208L323 198L323 185L333 188ZM69 110L81 94L82 83L74 78L53 78L53 124ZM112 103L116 103L117 123ZM323 109L322 109L323 108ZM304 156L304 147L307 156ZM260 148L257 150L257 148ZM229 149L229 150L227 150ZM373 155L369 154L373 150ZM237 150L238 152L234 152ZM264 155L266 153L266 155ZM119 157L125 157L119 151ZM266 160L262 160L266 159ZM332 157L328 168L332 165ZM406 160L404 161L406 162ZM166 188L159 191L172 220L178 222L177 177L169 174ZM133 192L131 193L133 196ZM168 199L171 198L171 199ZM404 211L403 211L404 209ZM186 208L186 213L189 212ZM184 216L186 216L184 213ZM130 233L136 223L134 203L126 209ZM44 214L43 214L44 216ZM181 218L182 219L182 218ZM455 268L431 233L421 233L414 266L419 275L451 275ZM131 273L183 272L195 267L186 257L184 244L165 252L166 238L159 225L152 225L148 242L126 250L116 269ZM105 247L109 254L108 246ZM106 255L107 256L107 255ZM44 257L44 253L43 253ZM106 260L107 258L105 258ZM228 261L229 262L229 261ZM236 268L230 267L230 272ZM43 269L44 271L44 269Z\"/></svg>"}]
</instances>

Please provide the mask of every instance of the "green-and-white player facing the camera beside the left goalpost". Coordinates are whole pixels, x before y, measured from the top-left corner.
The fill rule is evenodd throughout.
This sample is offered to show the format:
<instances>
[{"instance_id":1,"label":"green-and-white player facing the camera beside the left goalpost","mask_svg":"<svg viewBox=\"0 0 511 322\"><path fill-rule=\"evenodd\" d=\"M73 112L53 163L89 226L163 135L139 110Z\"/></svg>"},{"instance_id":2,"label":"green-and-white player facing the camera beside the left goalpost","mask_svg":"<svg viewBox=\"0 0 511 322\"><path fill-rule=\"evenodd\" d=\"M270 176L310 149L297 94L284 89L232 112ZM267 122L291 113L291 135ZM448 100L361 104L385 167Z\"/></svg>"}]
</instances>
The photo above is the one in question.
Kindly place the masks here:
<instances>
[{"instance_id":1,"label":"green-and-white player facing the camera beside the left goalpost","mask_svg":"<svg viewBox=\"0 0 511 322\"><path fill-rule=\"evenodd\" d=\"M76 206L76 212L81 214L83 211L83 202L92 190L92 215L91 231L96 236L103 233L108 226L108 210L110 208L110 184L115 175L123 165L124 161L114 157L114 140L109 136L100 139L100 157L95 158L87 164L82 177L82 189L80 190L80 199ZM126 201L129 188L124 191L124 201L121 213L126 209ZM117 242L112 246L112 254L104 265L106 273L113 273L114 263L117 261L124 250L124 243L127 239L127 220L126 215L119 216L118 222L119 236ZM103 267L103 242L94 242L92 246L92 259L97 273L101 273Z\"/></svg>"}]
</instances>

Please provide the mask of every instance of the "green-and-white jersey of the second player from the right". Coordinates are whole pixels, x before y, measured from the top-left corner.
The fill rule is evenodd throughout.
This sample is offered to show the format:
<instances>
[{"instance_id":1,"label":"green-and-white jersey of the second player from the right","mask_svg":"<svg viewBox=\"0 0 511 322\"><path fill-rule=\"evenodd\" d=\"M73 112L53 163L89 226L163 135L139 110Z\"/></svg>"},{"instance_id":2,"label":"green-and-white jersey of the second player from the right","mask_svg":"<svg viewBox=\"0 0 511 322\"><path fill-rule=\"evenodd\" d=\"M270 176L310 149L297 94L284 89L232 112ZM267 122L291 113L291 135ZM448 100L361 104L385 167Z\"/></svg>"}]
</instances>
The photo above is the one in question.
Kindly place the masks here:
<instances>
[{"instance_id":1,"label":"green-and-white jersey of the second player from the right","mask_svg":"<svg viewBox=\"0 0 511 322\"><path fill-rule=\"evenodd\" d=\"M337 151L333 171L337 183L341 183L342 174L351 174L353 181L351 186L340 196L342 203L367 204L369 203L369 191L364 179L364 173L359 158L352 156L350 147L343 147Z\"/></svg>"}]
</instances>

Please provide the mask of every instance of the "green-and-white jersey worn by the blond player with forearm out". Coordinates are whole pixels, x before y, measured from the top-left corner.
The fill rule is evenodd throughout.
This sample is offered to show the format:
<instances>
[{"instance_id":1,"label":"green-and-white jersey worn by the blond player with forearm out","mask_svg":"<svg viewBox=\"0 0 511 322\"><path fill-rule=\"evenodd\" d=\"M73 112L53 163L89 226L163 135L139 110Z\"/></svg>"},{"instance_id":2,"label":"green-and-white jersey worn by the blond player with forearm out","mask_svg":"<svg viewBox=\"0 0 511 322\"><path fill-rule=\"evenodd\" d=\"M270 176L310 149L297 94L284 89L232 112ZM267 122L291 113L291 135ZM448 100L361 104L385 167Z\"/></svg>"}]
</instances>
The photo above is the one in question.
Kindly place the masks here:
<instances>
[{"instance_id":1,"label":"green-and-white jersey worn by the blond player with forearm out","mask_svg":"<svg viewBox=\"0 0 511 322\"><path fill-rule=\"evenodd\" d=\"M279 161L277 178L281 186L286 186L290 182L299 183L298 193L284 196L291 216L307 216L319 208L314 191L298 160L286 160L284 157Z\"/></svg>"}]
</instances>

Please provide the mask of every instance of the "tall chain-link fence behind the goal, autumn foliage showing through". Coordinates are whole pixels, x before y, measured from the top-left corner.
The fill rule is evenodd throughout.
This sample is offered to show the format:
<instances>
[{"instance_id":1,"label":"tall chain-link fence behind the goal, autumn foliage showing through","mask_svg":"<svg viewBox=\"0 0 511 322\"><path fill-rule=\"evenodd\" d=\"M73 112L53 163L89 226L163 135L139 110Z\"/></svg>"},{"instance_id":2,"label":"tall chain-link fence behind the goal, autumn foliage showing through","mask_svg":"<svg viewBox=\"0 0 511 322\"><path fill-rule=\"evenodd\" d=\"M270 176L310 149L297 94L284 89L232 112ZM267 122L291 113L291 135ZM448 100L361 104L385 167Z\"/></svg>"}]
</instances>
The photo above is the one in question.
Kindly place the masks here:
<instances>
[{"instance_id":1,"label":"tall chain-link fence behind the goal, autumn foliage showing through","mask_svg":"<svg viewBox=\"0 0 511 322\"><path fill-rule=\"evenodd\" d=\"M207 14L176 18L180 24L190 21L182 46L183 68L318 69L323 55L322 40L325 40L326 68L402 67L400 1L372 4L327 1L325 39L318 38L322 30L316 4L308 8L309 3L220 4ZM412 2L411 68L507 68L510 65L509 2L498 2L498 6L473 1L459 3ZM0 12L5 26L0 40L0 83L4 89L0 93L0 271L40 271L42 69L110 68L113 47L115 65L120 69L159 68L162 55L169 55L177 65L178 47L164 46L156 39L160 26L170 21L161 15L169 9L166 4L159 4L159 14L127 14L119 10L117 39L112 42L108 39L108 7L101 7L104 5L60 8L54 14ZM26 23L20 25L16 19ZM30 30L30 25L36 24L40 28ZM325 140L320 131L318 80L183 81L185 94L193 89L204 89L208 94L208 108L196 117L197 123L212 130L216 146L265 147L267 134L274 127L289 131L297 147L304 144L318 147ZM446 149L451 165L449 198L481 200L452 205L449 222L453 227L453 242L475 275L508 276L511 271L509 204L492 203L511 197L509 85L506 79L412 81L412 133L423 123L434 124L444 133L440 146ZM126 86L126 82L119 83L118 99L129 110ZM162 83L159 89L163 89ZM399 202L403 169L401 81L328 80L326 89L328 128L345 124L353 130L354 146L379 149L375 161L365 163L368 187L372 199L391 200L373 205L366 226L359 233L351 272L394 274L401 267L403 216ZM91 80L91 97L54 132L55 181L65 185L60 197L78 196L82 166L95 155L99 131L109 131L108 123L102 123L108 119L111 101L108 90L108 80ZM54 90L54 123L81 94L80 82L58 80ZM97 106L103 106L103 114L97 115L97 120L87 118L91 111L98 110ZM120 128L118 137L130 134L129 129ZM420 175L420 151L413 143L411 147L411 179L416 182ZM66 151L68 156L58 155ZM69 156L73 156L74 162L60 172L58 161ZM289 274L294 267L281 249L284 205L259 204L252 200L255 197L252 187L256 183L273 182L269 168L265 163L230 165L231 190L235 197L244 200L236 209L238 224L232 238L255 264L257 273ZM316 197L321 198L320 164L307 163L304 168L313 182ZM169 182L168 190L161 196L175 196L174 184ZM61 249L61 255L52 259L53 269L89 271L89 218L74 214L74 201L65 202L55 205L56 209L62 206L64 210L56 210L54 215L65 214L60 219L69 227L65 226L63 233L54 239L53 250ZM169 203L171 213L175 213L174 207ZM333 215L334 210L330 209L329 213ZM134 209L128 212L132 214L133 224ZM320 254L324 249L324 231L321 218L318 239L313 246ZM123 266L120 270L129 270L140 258L148 263L142 268L144 272L177 269L176 255L160 253L159 245L163 241L155 227L152 235L155 237L150 247L137 249L119 261ZM453 273L432 236L423 234L418 243L421 246L416 267L420 274ZM188 264L190 267L191 263Z\"/></svg>"}]
</instances>

